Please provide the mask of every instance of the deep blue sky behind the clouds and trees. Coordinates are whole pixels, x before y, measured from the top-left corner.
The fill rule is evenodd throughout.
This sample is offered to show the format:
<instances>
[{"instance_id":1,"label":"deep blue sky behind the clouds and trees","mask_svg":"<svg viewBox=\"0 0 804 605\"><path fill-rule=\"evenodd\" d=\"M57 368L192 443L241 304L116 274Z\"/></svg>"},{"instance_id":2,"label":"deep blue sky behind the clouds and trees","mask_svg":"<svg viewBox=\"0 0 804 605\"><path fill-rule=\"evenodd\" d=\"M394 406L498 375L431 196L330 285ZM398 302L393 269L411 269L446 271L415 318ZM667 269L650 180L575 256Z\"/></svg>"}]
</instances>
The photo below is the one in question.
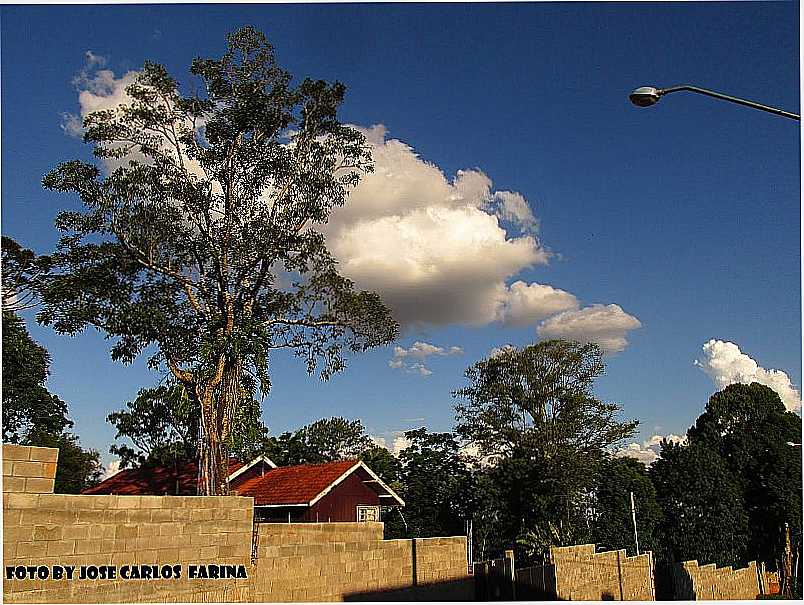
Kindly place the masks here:
<instances>
[{"instance_id":1,"label":"deep blue sky behind the clouds and trees","mask_svg":"<svg viewBox=\"0 0 804 605\"><path fill-rule=\"evenodd\" d=\"M42 176L90 157L61 128L63 114L81 110L72 82L86 51L106 60L94 76L120 78L151 59L189 82L194 56L221 54L226 33L251 24L296 76L344 82L341 118L384 125L382 149L402 141L415 150L407 161L437 166L448 185L458 171L482 172L494 200L499 191L527 200L549 262L502 278L478 267L477 289L472 267L460 267L464 289L430 284L430 303L502 279L571 293L582 310L618 305L606 321L641 327L618 335L628 344L607 357L597 391L641 420L640 441L683 434L716 380L750 373L734 347L713 345L707 357L710 339L738 346L763 376L785 372L800 391L798 124L692 94L642 110L627 99L639 85L692 83L798 112L797 3L4 6L0 18L2 231L37 252L52 250L53 218L75 204L44 191ZM522 224L499 226L500 250L526 235ZM71 339L26 317L53 356L50 389L69 403L82 443L108 461L106 414L159 377L144 361L112 363L102 335ZM394 368L388 347L328 383L278 355L264 418L274 433L361 418L389 441L415 426L449 430L464 369L492 347L534 342L541 321L409 326L396 345L462 353L408 355ZM416 371L420 362L432 373Z\"/></svg>"}]
</instances>

